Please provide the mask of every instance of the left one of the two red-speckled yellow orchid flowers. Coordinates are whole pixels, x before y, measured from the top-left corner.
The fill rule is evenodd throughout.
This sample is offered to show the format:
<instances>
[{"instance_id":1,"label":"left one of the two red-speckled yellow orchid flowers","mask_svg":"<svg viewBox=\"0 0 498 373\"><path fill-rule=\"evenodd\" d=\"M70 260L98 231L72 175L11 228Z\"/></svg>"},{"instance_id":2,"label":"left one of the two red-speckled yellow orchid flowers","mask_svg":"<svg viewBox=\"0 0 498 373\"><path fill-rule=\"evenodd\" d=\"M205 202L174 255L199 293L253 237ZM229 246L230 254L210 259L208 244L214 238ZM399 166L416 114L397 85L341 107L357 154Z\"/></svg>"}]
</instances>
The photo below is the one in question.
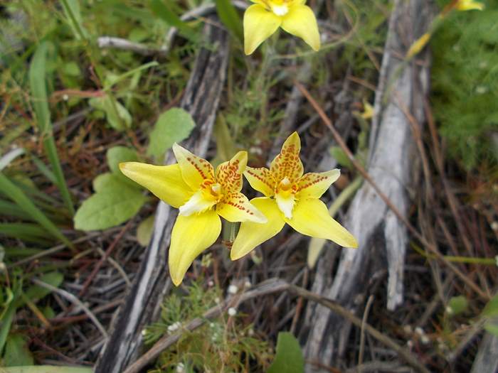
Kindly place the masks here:
<instances>
[{"instance_id":1,"label":"left one of the two red-speckled yellow orchid flowers","mask_svg":"<svg viewBox=\"0 0 498 373\"><path fill-rule=\"evenodd\" d=\"M266 222L242 190L242 173L248 154L239 151L216 172L211 163L178 144L173 145L176 161L169 166L120 163L128 178L150 190L168 205L179 208L171 231L169 273L176 286L196 256L210 247L221 232L220 216L229 222Z\"/></svg>"}]
</instances>

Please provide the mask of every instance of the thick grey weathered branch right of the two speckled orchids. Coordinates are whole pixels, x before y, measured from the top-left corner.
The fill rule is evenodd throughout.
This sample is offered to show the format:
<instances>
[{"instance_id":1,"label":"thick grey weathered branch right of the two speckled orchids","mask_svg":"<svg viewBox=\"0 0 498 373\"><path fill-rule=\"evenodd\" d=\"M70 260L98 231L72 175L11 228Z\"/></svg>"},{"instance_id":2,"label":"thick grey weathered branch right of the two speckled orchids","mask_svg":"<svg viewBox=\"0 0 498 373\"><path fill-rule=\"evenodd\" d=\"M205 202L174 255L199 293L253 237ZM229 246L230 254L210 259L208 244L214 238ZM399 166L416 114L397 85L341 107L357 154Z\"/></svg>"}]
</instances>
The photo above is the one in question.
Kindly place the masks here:
<instances>
[{"instance_id":1,"label":"thick grey weathered branch right of the two speckled orchids","mask_svg":"<svg viewBox=\"0 0 498 373\"><path fill-rule=\"evenodd\" d=\"M427 93L428 68L406 64L403 56L428 28L430 8L427 1L395 2L388 28L381 76L376 92L376 116L371 131L368 173L397 210L406 217L407 191L418 169L412 128L406 117L409 110L418 124L423 122L423 96ZM403 70L401 70L403 69ZM341 254L337 275L332 280L332 252L319 260L312 290L332 298L342 306L356 310L366 299L366 289L378 269L388 269L388 309L403 301L403 269L408 237L406 227L371 184L364 183L356 194L346 227L358 239L359 249ZM305 355L309 360L329 365L344 350L351 325L329 310L309 305L302 337L307 340ZM312 367L307 367L312 372Z\"/></svg>"}]
</instances>

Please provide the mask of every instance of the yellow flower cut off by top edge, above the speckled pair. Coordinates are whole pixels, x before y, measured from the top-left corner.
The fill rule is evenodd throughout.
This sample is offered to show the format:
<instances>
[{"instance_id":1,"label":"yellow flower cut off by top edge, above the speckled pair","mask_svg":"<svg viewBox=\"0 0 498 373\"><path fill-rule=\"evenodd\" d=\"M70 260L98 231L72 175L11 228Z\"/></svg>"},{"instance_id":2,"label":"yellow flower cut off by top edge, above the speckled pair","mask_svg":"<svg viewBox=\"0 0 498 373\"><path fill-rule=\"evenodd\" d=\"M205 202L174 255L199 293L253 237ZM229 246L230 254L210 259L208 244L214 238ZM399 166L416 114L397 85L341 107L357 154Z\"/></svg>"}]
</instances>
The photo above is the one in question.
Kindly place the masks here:
<instances>
[{"instance_id":1,"label":"yellow flower cut off by top edge, above the speckled pair","mask_svg":"<svg viewBox=\"0 0 498 373\"><path fill-rule=\"evenodd\" d=\"M251 0L244 13L244 51L250 55L277 28L302 38L314 50L320 49L317 18L306 0Z\"/></svg>"}]
</instances>

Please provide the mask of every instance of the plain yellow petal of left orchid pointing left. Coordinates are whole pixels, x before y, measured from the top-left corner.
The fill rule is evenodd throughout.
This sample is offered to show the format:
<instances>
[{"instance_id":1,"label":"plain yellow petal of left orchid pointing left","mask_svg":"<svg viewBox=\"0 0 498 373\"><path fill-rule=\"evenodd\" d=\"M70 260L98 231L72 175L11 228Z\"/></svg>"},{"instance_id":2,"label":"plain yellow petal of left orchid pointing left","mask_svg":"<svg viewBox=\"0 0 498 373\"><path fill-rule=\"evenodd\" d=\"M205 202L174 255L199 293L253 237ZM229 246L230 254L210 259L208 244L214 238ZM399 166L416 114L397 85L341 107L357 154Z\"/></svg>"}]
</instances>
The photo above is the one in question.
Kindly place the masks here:
<instances>
[{"instance_id":1,"label":"plain yellow petal of left orchid pointing left","mask_svg":"<svg viewBox=\"0 0 498 373\"><path fill-rule=\"evenodd\" d=\"M168 205L180 207L192 195L192 191L181 177L178 163L169 166L154 166L139 162L122 162L120 170L135 183L150 190Z\"/></svg>"}]
</instances>

